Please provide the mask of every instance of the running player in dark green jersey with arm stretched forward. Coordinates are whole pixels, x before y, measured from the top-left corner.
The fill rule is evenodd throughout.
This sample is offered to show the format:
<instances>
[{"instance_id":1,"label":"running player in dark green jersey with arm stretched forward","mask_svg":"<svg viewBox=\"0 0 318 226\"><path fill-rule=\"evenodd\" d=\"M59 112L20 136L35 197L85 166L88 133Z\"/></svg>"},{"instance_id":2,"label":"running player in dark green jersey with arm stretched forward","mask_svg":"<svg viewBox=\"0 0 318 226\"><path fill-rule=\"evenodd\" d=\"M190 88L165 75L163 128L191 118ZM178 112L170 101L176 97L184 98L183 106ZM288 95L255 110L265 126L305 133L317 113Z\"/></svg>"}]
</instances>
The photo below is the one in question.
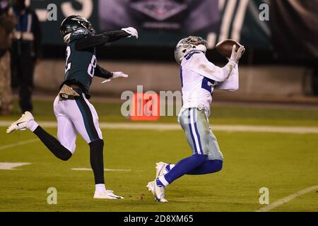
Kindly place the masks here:
<instances>
[{"instance_id":1,"label":"running player in dark green jersey with arm stretched forward","mask_svg":"<svg viewBox=\"0 0 318 226\"><path fill-rule=\"evenodd\" d=\"M102 132L98 114L88 102L89 89L93 77L111 80L126 78L121 71L110 72L97 64L95 47L106 42L114 42L122 37L136 37L134 28L122 28L95 35L91 23L78 15L69 16L61 23L61 35L66 42L66 67L64 82L54 101L54 114L57 117L58 139L51 136L34 120L30 112L25 112L18 121L8 127L7 133L14 130L30 129L42 143L59 159L69 160L75 151L76 134L80 133L90 146L90 165L95 178L94 198L123 198L107 190L104 181Z\"/></svg>"}]
</instances>

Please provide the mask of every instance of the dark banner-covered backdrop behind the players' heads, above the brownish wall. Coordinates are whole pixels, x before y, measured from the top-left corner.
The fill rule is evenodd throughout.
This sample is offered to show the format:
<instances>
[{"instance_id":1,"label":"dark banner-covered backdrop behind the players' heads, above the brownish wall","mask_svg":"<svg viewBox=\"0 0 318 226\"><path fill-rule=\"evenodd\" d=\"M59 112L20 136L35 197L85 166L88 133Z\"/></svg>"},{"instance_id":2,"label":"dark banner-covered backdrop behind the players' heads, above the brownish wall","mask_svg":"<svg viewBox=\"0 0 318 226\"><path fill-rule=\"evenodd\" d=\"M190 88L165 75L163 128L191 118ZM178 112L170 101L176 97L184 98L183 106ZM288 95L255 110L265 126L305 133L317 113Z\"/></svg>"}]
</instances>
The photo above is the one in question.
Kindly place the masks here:
<instances>
[{"instance_id":1,"label":"dark banner-covered backdrop behind the players' heads, above the brownish wall","mask_svg":"<svg viewBox=\"0 0 318 226\"><path fill-rule=\"evenodd\" d=\"M240 42L245 45L246 53L241 59L242 66L298 66L305 70L301 76L304 91L301 95L318 94L318 76L317 76L317 58L318 58L318 32L317 32L317 1L271 1L271 0L251 0L251 1L230 1L230 0L193 0L193 1L112 1L112 0L89 0L89 1L30 1L32 8L38 13L46 11L48 4L57 5L57 21L42 21L43 31L43 57L45 60L56 60L64 58L64 44L59 35L59 24L66 16L73 12L83 13L88 4L93 7L89 14L89 20L95 25L95 28L102 32L103 28L120 29L124 26L134 25L139 30L139 40L120 40L112 44L107 44L98 48L97 55L100 61L117 61L124 65L131 64L129 61L141 61L146 64L147 61L167 62L172 64L174 60L173 48L179 39L187 35L201 35L208 38L208 34L213 32L216 35L215 40L208 50L208 59L216 64L223 65L226 59L214 49L214 45L222 40L223 20L228 18L230 25L228 34L224 38L237 37L235 32L235 23L238 14L243 13L242 28L239 32ZM157 2L157 3L156 3ZM148 5L143 5L143 4ZM234 3L234 4L233 4ZM69 4L67 8L64 4ZM136 6L135 6L135 5ZM140 5L141 4L141 5ZM156 20L155 13L158 13L158 4L161 4L160 13L169 13L170 10L184 6L181 13L170 16L165 20ZM259 20L259 13L263 8L261 4L269 6L269 20ZM201 6L200 6L201 5ZM222 5L222 6L220 6ZM150 6L150 7L149 7ZM232 14L229 8L234 6ZM242 7L244 6L244 7ZM113 8L112 8L113 7ZM121 22L116 20L116 8L124 10L127 18ZM139 7L139 10L135 8ZM142 7L149 7L153 14L143 12ZM200 8L201 7L201 8ZM216 10L218 8L218 10ZM242 10L244 8L244 10ZM68 11L69 10L69 11ZM115 13L112 13L112 12ZM198 21L187 20L192 11L203 11L206 16L202 16ZM107 12L111 12L108 13ZM148 15L148 14L150 15ZM160 14L158 13L158 14ZM163 14L164 14L163 13ZM102 16L101 16L102 15ZM112 23L109 19L114 19ZM191 20L193 20L192 17ZM40 19L41 20L41 19ZM45 20L42 19L42 20ZM196 19L194 19L196 20ZM194 30L191 32L187 25L191 23L201 23L208 20L206 28ZM179 23L180 27L173 29L166 28L144 28L144 22L151 23ZM191 26L190 26L191 27ZM105 29L104 29L105 30ZM257 73L257 72L256 72ZM270 73L270 70L269 70ZM283 81L282 81L283 83ZM177 89L177 88L175 88ZM308 91L309 90L309 91ZM272 90L275 92L275 90Z\"/></svg>"}]
</instances>

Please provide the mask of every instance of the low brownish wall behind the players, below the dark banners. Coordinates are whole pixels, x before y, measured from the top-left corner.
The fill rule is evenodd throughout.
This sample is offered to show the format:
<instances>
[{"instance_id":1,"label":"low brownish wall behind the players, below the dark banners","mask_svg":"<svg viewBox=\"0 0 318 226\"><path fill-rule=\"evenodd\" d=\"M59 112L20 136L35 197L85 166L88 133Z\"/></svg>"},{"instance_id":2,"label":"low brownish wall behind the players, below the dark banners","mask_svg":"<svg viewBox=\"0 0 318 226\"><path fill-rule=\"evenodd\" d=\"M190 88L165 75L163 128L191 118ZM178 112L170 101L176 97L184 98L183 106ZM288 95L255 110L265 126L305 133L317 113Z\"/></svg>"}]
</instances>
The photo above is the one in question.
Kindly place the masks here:
<instances>
[{"instance_id":1,"label":"low brownish wall behind the players, below the dark banners","mask_svg":"<svg viewBox=\"0 0 318 226\"><path fill-rule=\"evenodd\" d=\"M36 90L58 92L64 79L63 60L45 60L35 69ZM95 78L90 93L118 96L124 90L136 91L137 85L143 90L180 90L179 66L170 62L149 61L99 61L110 71L124 71L128 79L116 79L101 84L102 78ZM302 66L241 66L241 95L302 96L305 95L305 81L308 74ZM232 96L232 95L231 95Z\"/></svg>"}]
</instances>

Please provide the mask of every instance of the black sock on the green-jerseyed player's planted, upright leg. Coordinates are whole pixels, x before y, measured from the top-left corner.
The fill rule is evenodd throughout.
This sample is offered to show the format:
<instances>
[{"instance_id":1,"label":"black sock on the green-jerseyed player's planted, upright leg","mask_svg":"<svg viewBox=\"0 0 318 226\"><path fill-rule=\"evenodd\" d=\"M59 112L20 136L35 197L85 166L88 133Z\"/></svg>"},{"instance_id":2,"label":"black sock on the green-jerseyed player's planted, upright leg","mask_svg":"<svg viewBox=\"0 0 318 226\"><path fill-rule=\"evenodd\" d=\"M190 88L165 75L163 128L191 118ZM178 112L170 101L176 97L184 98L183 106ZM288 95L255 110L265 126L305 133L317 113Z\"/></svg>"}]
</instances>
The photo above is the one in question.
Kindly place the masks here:
<instances>
[{"instance_id":1,"label":"black sock on the green-jerseyed player's planted, upright leg","mask_svg":"<svg viewBox=\"0 0 318 226\"><path fill-rule=\"evenodd\" d=\"M93 169L95 184L105 184L104 181L104 141L98 139L89 143L90 145L90 167Z\"/></svg>"}]
</instances>

